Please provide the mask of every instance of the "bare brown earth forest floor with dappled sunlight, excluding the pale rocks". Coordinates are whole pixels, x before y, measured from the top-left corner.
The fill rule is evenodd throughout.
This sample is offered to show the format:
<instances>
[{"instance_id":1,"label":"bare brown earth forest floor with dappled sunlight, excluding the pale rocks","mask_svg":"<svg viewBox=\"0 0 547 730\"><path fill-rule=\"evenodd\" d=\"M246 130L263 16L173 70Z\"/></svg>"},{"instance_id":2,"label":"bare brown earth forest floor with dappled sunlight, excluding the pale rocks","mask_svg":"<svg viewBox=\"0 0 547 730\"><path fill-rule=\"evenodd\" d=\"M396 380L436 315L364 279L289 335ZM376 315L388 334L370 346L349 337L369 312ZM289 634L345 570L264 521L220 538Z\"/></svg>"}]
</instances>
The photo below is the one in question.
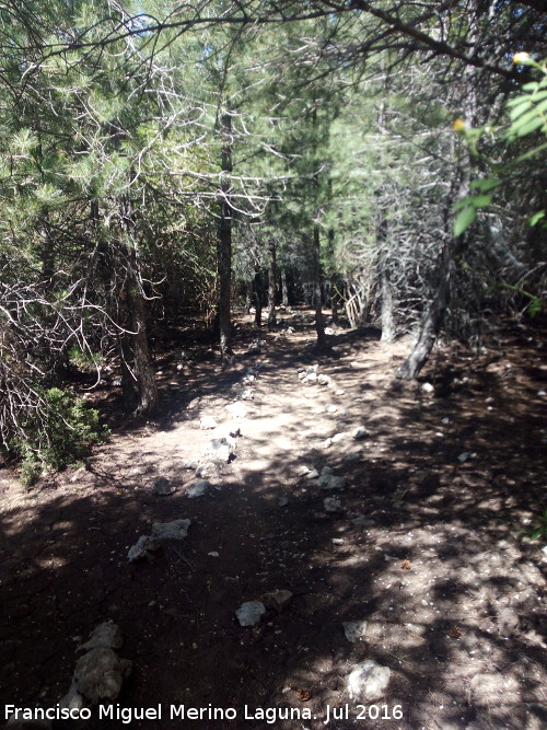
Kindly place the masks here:
<instances>
[{"instance_id":1,"label":"bare brown earth forest floor with dappled sunlight, excluding the pale rocks","mask_svg":"<svg viewBox=\"0 0 547 730\"><path fill-rule=\"evenodd\" d=\"M135 663L119 704L163 705L162 720L131 728L317 730L327 706L344 715L346 704L348 718L330 710L328 728L545 727L547 559L529 540L546 485L542 338L516 329L475 360L446 348L409 385L393 380L408 340L340 331L337 351L317 356L309 313L284 313L288 325L293 333L260 333L256 355L245 350L258 333L241 327L228 372L214 360L177 370L176 352L166 356L158 369L168 416L116 431L88 471L31 490L0 471L0 702L55 705L75 646L112 619ZM315 362L331 386L300 383L299 367ZM232 386L257 366L236 459L213 495L188 499L195 477L183 464L214 436L200 417L229 420ZM357 441L360 425L369 436ZM303 465L333 467L346 487L319 490L299 477ZM177 491L155 496L159 476ZM326 513L327 496L344 511ZM366 524L352 523L360 515ZM152 522L178 518L191 520L184 542L128 563ZM241 603L276 589L293 592L288 609L242 628ZM356 644L341 626L353 619L368 621ZM392 670L376 703L392 719L358 719L346 693L346 675L366 659ZM181 704L233 707L237 719L171 720ZM403 718L393 719L396 705ZM267 722L257 707L312 717ZM72 727L128 726L94 716Z\"/></svg>"}]
</instances>

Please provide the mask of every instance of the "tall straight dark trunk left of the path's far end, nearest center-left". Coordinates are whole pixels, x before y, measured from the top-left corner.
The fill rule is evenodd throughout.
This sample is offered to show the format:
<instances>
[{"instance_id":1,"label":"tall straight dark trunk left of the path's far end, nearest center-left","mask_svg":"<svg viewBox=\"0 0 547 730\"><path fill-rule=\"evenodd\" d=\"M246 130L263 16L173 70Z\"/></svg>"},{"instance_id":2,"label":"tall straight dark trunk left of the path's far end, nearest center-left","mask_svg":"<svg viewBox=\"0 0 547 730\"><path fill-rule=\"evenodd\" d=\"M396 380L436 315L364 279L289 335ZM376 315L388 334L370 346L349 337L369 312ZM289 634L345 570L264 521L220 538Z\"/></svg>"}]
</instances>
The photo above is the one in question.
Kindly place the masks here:
<instances>
[{"instance_id":1,"label":"tall straight dark trunk left of the path's far end, nearest center-left","mask_svg":"<svg viewBox=\"0 0 547 730\"><path fill-rule=\"evenodd\" d=\"M232 356L232 317L231 317L231 288L232 288L232 207L230 205L230 193L232 183L232 118L223 114L221 118L221 131L224 137L221 155L221 204L219 239L217 246L218 271L219 271L219 328L220 328L220 354L223 364L228 363Z\"/></svg>"}]
</instances>

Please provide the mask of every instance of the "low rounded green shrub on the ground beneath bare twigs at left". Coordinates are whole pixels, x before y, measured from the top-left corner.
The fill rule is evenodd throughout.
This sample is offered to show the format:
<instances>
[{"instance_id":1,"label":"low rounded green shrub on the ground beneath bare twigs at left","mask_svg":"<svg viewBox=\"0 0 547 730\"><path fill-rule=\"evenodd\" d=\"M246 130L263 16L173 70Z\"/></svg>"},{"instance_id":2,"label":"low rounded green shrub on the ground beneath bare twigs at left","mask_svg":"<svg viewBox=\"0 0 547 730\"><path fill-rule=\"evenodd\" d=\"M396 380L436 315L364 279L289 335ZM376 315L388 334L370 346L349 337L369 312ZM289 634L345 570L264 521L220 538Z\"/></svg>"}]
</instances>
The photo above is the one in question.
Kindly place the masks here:
<instances>
[{"instance_id":1,"label":"low rounded green shrub on the ground beneath bare twigs at left","mask_svg":"<svg viewBox=\"0 0 547 730\"><path fill-rule=\"evenodd\" d=\"M23 422L15 444L23 456L21 478L33 484L44 468L59 471L90 452L94 443L104 441L107 429L98 424L98 412L89 408L69 391L58 387L37 390L39 405Z\"/></svg>"}]
</instances>

